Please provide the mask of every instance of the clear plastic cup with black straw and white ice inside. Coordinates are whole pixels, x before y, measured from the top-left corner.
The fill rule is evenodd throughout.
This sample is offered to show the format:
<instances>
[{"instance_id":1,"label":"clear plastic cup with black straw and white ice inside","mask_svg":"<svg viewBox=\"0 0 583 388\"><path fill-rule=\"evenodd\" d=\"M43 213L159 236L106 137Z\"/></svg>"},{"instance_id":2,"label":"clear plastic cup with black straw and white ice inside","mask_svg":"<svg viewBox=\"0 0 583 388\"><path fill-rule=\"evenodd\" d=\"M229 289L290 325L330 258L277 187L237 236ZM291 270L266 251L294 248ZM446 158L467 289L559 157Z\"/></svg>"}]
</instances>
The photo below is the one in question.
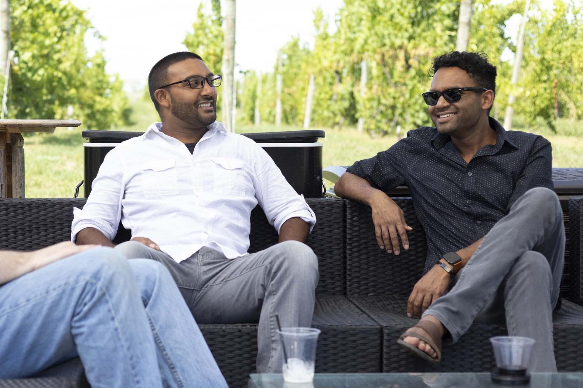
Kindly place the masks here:
<instances>
[{"instance_id":1,"label":"clear plastic cup with black straw and white ice inside","mask_svg":"<svg viewBox=\"0 0 583 388\"><path fill-rule=\"evenodd\" d=\"M283 380L287 383L312 382L320 330L282 328L278 333L283 346Z\"/></svg>"}]
</instances>

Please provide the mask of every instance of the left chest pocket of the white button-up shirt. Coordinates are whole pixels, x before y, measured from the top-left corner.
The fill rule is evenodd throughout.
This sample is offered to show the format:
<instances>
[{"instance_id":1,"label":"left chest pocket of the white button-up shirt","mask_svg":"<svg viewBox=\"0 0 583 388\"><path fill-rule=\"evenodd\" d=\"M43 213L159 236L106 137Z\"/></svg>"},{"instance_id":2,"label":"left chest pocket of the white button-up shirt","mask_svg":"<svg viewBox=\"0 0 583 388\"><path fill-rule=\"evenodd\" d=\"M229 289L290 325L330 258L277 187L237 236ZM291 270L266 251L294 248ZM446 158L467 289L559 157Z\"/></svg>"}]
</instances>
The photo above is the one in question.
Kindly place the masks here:
<instances>
[{"instance_id":1,"label":"left chest pocket of the white button-up shirt","mask_svg":"<svg viewBox=\"0 0 583 388\"><path fill-rule=\"evenodd\" d=\"M157 159L142 163L144 197L156 198L178 194L178 175L174 159Z\"/></svg>"}]
</instances>

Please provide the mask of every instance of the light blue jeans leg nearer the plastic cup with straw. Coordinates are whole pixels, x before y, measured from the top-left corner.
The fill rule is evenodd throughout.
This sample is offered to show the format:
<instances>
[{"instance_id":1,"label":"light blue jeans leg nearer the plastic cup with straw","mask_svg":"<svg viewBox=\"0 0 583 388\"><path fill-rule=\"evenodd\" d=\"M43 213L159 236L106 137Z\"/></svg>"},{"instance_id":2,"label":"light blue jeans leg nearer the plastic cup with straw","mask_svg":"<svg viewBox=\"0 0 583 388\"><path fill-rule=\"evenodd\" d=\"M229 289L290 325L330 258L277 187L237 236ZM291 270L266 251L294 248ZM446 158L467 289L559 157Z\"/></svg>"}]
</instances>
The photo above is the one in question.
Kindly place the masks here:
<instances>
[{"instance_id":1,"label":"light blue jeans leg nearer the plastic cup with straw","mask_svg":"<svg viewBox=\"0 0 583 388\"><path fill-rule=\"evenodd\" d=\"M201 330L170 276L157 261L131 259L157 346L164 386L226 388Z\"/></svg>"}]
</instances>

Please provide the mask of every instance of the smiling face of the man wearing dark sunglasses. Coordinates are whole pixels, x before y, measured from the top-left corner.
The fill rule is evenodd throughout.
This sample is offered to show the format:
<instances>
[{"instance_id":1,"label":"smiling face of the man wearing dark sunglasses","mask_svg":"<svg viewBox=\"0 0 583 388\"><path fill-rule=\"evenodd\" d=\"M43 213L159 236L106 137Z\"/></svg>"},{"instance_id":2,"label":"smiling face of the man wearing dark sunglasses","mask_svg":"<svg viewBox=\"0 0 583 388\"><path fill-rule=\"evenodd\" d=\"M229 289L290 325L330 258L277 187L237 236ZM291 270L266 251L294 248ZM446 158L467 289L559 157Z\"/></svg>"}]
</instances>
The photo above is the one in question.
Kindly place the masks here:
<instances>
[{"instance_id":1,"label":"smiling face of the man wearing dark sunglasses","mask_svg":"<svg viewBox=\"0 0 583 388\"><path fill-rule=\"evenodd\" d=\"M431 81L431 91L444 91L449 88L480 87L469 74L459 67L440 67ZM462 91L462 98L447 102L440 96L437 105L429 106L429 115L439 133L454 135L472 130L493 101L491 91Z\"/></svg>"}]
</instances>

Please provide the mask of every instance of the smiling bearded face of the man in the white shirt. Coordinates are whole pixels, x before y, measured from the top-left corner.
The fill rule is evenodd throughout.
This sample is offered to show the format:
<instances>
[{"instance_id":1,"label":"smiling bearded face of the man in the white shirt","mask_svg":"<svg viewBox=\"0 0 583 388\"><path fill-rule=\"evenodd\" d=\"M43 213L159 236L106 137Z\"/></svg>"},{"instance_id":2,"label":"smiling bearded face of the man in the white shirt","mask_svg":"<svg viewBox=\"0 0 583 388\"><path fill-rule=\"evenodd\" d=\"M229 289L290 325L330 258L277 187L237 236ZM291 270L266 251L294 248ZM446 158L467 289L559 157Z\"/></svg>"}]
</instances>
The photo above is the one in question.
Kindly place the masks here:
<instances>
[{"instance_id":1,"label":"smiling bearded face of the man in the white shirt","mask_svg":"<svg viewBox=\"0 0 583 388\"><path fill-rule=\"evenodd\" d=\"M199 59L185 59L168 66L168 83L180 81L193 76L208 77L213 73ZM188 82L166 87L170 94L171 114L187 124L202 128L215 122L217 91L206 82L200 89L191 89Z\"/></svg>"}]
</instances>

